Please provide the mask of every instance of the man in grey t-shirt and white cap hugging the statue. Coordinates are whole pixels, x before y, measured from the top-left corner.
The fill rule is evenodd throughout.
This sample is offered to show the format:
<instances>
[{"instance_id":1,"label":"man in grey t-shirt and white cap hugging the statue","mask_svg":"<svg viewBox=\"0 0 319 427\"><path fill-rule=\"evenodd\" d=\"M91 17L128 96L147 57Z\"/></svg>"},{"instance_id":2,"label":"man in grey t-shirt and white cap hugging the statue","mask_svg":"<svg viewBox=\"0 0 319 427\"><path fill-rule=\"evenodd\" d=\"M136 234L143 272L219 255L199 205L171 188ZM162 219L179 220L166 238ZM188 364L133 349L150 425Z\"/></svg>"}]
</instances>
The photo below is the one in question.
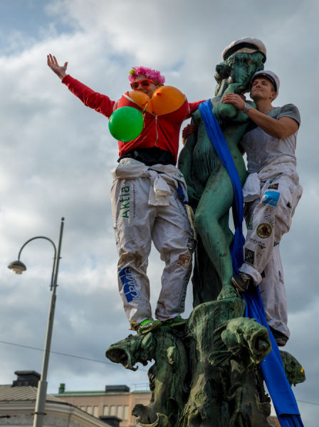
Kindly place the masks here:
<instances>
[{"instance_id":1,"label":"man in grey t-shirt and white cap hugging the statue","mask_svg":"<svg viewBox=\"0 0 319 427\"><path fill-rule=\"evenodd\" d=\"M256 107L231 93L222 102L246 112L252 121L241 141L249 173L243 189L247 223L244 264L232 283L239 292L251 284L259 285L268 325L278 345L283 346L290 331L279 243L291 227L303 190L295 155L300 115L293 104L273 107L278 90L278 76L260 70L251 78L250 96Z\"/></svg>"}]
</instances>

